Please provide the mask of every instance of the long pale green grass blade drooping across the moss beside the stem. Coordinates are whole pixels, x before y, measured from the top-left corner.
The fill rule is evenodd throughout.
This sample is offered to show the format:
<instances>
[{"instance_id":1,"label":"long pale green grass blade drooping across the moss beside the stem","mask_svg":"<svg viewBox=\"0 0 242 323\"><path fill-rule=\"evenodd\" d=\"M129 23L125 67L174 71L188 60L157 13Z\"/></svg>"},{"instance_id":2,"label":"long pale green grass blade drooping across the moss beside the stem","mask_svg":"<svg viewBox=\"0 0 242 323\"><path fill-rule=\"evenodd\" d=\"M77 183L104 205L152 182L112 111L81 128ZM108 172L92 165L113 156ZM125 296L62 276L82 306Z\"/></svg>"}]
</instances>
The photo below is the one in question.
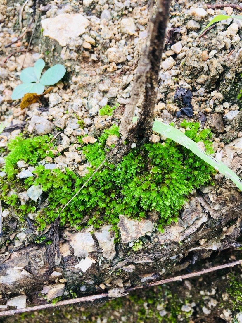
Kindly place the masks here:
<instances>
[{"instance_id":1,"label":"long pale green grass blade drooping across the moss beside the stem","mask_svg":"<svg viewBox=\"0 0 242 323\"><path fill-rule=\"evenodd\" d=\"M235 183L235 185L240 189L240 191L242 191L242 180L222 161L217 161L215 158L208 155L197 145L195 141L188 138L183 132L158 120L155 120L153 130L160 133L163 136L166 136L167 138L176 141L177 143L186 147L187 149L190 149L195 155L200 157L203 161L206 161L218 172L231 179Z\"/></svg>"}]
</instances>

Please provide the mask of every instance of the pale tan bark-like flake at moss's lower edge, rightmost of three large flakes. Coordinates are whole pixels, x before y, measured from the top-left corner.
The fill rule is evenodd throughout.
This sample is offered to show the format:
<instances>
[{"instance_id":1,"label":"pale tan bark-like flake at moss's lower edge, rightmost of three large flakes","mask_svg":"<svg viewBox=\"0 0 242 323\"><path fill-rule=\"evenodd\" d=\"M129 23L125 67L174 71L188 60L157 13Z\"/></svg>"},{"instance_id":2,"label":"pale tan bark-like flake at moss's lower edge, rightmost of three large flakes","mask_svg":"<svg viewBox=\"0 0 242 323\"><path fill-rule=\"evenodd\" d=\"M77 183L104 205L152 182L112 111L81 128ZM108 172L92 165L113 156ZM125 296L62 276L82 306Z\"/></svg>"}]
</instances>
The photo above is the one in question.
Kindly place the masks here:
<instances>
[{"instance_id":1,"label":"pale tan bark-like flake at moss's lower edge, rightmost of three large flakes","mask_svg":"<svg viewBox=\"0 0 242 323\"><path fill-rule=\"evenodd\" d=\"M152 232L154 225L155 220L152 218L150 220L142 219L141 221L138 221L129 219L124 215L119 215L118 228L120 229L123 243L138 239L147 232Z\"/></svg>"}]
</instances>

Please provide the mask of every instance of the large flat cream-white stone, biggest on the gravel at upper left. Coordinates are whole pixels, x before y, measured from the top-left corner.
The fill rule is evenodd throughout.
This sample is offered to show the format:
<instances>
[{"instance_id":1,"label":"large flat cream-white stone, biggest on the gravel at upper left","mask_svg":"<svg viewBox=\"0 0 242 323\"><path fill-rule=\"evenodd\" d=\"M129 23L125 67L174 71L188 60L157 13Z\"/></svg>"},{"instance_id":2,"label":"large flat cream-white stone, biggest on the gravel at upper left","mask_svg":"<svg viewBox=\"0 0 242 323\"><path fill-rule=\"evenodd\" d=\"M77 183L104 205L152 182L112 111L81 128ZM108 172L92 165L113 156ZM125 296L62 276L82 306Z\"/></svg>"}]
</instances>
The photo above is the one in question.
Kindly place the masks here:
<instances>
[{"instance_id":1,"label":"large flat cream-white stone, biggest on the gravel at upper left","mask_svg":"<svg viewBox=\"0 0 242 323\"><path fill-rule=\"evenodd\" d=\"M88 19L81 14L60 14L41 21L43 36L57 40L61 46L66 46L70 38L84 34L88 25Z\"/></svg>"}]
</instances>

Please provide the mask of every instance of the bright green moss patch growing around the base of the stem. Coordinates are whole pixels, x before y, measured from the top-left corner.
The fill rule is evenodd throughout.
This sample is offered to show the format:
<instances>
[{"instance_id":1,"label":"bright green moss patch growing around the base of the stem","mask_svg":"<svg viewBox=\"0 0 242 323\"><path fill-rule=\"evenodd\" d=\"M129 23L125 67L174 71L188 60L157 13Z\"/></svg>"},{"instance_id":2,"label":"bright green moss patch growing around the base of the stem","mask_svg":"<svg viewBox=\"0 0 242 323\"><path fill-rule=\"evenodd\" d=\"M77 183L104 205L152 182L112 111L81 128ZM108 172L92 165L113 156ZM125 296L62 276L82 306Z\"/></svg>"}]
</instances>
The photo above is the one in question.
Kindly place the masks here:
<instances>
[{"instance_id":1,"label":"bright green moss patch growing around the base of the stem","mask_svg":"<svg viewBox=\"0 0 242 323\"><path fill-rule=\"evenodd\" d=\"M206 150L212 151L209 130L199 132L198 122L187 123L186 128L189 138L196 142L204 141ZM106 139L111 134L119 136L116 125L104 130L94 144L82 147L85 162L91 165L84 177L68 168L64 171L58 168L49 170L39 164L47 156L54 157L51 152L54 143L50 142L49 136L16 137L8 144L9 153L5 157L3 171L6 175L0 185L2 201L11 205L20 219L30 212L36 213L35 222L43 230L105 159L109 151ZM19 160L35 167L33 177L16 177ZM175 141L167 139L163 143L147 143L139 149L132 149L117 165L106 161L61 212L61 224L68 222L78 229L102 224L112 224L116 228L120 214L141 219L148 211L155 210L159 213L157 228L161 230L177 220L187 195L194 188L211 182L214 173L213 167ZM39 208L38 203L32 200L21 205L17 195L31 185L41 185L42 201L47 200L44 207ZM15 190L12 195L8 194L11 190Z\"/></svg>"}]
</instances>

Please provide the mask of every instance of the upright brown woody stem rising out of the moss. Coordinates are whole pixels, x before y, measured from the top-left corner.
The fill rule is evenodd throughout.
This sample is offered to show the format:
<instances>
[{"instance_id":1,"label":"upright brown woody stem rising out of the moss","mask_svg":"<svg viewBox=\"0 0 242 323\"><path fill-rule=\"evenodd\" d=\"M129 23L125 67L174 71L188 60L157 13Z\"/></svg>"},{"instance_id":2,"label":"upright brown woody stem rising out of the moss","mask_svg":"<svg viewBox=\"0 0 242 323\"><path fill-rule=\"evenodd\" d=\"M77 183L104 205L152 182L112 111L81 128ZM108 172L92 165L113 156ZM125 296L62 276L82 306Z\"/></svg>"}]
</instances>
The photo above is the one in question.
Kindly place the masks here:
<instances>
[{"instance_id":1,"label":"upright brown woody stem rising out of the moss","mask_svg":"<svg viewBox=\"0 0 242 323\"><path fill-rule=\"evenodd\" d=\"M156 16L151 19L149 38L144 46L138 68L136 69L131 98L126 105L120 125L122 139L142 145L152 133L154 108L157 98L158 76L161 55L166 38L166 25L169 18L170 0L157 1ZM143 94L144 99L139 112L138 121L132 124L134 112ZM119 155L120 158L120 155Z\"/></svg>"}]
</instances>

